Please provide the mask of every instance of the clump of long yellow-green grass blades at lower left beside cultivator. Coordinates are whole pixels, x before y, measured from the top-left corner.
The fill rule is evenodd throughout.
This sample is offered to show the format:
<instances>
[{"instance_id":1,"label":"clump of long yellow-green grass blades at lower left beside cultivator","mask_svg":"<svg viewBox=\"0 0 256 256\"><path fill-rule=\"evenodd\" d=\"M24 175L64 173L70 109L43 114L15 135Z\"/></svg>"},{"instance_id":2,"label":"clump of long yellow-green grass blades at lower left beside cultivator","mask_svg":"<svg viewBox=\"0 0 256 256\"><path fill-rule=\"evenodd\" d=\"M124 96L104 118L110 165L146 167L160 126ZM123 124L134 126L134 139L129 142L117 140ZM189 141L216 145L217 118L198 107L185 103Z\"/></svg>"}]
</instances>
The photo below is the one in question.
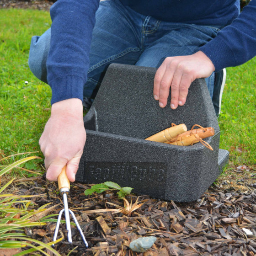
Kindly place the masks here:
<instances>
[{"instance_id":1,"label":"clump of long yellow-green grass blades at lower left beside cultivator","mask_svg":"<svg viewBox=\"0 0 256 256\"><path fill-rule=\"evenodd\" d=\"M32 239L24 231L24 229L32 227L42 228L47 222L56 221L55 219L50 219L56 214L48 215L49 211L55 208L55 206L48 208L48 203L37 208L37 204L29 200L33 196L5 194L4 191L7 190L7 187L11 185L15 178L6 182L4 185L1 184L2 176L14 167L39 157L29 156L9 165L3 165L10 157L13 156L0 158L0 255L38 255L36 252L40 252L40 255L49 256L50 253L51 255L60 256L51 247L53 242L46 244L40 240ZM38 195L34 197L38 197ZM60 238L54 243L56 244L62 239Z\"/></svg>"}]
</instances>

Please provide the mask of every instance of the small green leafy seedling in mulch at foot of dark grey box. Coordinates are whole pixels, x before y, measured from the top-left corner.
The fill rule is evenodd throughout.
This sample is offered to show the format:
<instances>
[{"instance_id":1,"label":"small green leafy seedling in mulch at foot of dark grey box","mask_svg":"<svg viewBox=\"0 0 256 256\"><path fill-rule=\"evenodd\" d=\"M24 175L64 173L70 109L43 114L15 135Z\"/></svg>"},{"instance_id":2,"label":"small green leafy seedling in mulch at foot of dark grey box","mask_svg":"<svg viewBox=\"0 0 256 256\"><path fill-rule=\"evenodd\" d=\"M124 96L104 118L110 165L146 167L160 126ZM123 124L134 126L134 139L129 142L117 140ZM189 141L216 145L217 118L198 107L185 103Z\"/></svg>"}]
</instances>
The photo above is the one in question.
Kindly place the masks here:
<instances>
[{"instance_id":1,"label":"small green leafy seedling in mulch at foot of dark grey box","mask_svg":"<svg viewBox=\"0 0 256 256\"><path fill-rule=\"evenodd\" d=\"M120 187L117 183L112 181L106 181L104 183L96 184L91 186L91 188L85 190L85 196L91 195L94 192L102 193L107 190L118 190L118 197L125 197L129 195L132 191L132 187Z\"/></svg>"}]
</instances>

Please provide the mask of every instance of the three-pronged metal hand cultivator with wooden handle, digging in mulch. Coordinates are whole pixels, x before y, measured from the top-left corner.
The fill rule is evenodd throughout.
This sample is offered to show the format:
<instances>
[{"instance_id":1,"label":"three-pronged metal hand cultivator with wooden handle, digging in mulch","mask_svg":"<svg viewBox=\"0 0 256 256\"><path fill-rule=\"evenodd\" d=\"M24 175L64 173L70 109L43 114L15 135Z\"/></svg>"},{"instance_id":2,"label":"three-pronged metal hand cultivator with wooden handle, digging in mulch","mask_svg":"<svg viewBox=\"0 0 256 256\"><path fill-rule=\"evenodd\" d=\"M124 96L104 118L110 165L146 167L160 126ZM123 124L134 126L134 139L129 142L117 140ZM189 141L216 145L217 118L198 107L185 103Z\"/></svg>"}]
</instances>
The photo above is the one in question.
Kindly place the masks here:
<instances>
[{"instance_id":1,"label":"three-pronged metal hand cultivator with wooden handle, digging in mulch","mask_svg":"<svg viewBox=\"0 0 256 256\"><path fill-rule=\"evenodd\" d=\"M75 218L75 214L69 209L69 206L68 206L68 194L69 194L69 190L70 190L70 184L69 184L69 179L66 175L66 166L63 167L60 175L58 176L58 184L59 184L59 193L62 195L62 198L63 198L64 209L62 209L59 212L59 217L58 217L56 229L55 229L55 232L54 232L53 241L56 241L56 239L57 239L60 219L61 219L62 213L64 212L65 219L66 219L66 228L67 228L67 231L68 231L68 241L69 241L69 243L72 244L70 218L69 218L69 214L71 214L71 216L73 217L73 219L75 221L76 227L79 230L80 235L82 236L82 239L85 243L85 246L88 247L88 243L85 239L85 236L83 234L82 229L80 228L80 225L79 225L77 219ZM53 244L53 246L54 246L54 244Z\"/></svg>"}]
</instances>

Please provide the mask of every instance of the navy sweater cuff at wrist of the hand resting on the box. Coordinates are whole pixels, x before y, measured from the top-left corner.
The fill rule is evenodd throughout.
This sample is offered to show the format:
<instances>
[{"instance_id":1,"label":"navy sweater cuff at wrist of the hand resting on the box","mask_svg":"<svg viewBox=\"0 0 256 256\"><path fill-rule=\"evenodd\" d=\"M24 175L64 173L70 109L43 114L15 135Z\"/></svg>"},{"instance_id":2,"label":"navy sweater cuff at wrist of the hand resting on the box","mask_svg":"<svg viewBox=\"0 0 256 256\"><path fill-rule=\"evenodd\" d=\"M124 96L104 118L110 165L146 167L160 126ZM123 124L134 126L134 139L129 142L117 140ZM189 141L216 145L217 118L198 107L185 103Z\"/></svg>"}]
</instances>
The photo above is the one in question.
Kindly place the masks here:
<instances>
[{"instance_id":1,"label":"navy sweater cuff at wrist of the hand resting on the box","mask_svg":"<svg viewBox=\"0 0 256 256\"><path fill-rule=\"evenodd\" d=\"M220 39L214 38L209 43L199 48L208 58L212 61L215 72L219 72L221 69L235 66L237 61L235 54L229 48L228 44Z\"/></svg>"}]
</instances>

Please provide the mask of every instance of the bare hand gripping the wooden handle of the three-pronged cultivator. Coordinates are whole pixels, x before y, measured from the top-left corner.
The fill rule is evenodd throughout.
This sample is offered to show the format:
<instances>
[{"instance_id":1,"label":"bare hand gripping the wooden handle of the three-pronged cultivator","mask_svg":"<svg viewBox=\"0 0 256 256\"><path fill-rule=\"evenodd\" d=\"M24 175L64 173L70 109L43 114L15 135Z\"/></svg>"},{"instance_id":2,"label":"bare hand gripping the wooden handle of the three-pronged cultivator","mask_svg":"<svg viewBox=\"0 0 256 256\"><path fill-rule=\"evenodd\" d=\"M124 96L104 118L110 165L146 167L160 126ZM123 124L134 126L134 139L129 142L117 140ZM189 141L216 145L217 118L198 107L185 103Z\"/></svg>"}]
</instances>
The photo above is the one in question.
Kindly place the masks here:
<instances>
[{"instance_id":1,"label":"bare hand gripping the wooden handle of the three-pronged cultivator","mask_svg":"<svg viewBox=\"0 0 256 256\"><path fill-rule=\"evenodd\" d=\"M48 180L57 181L62 168L67 165L69 181L75 181L85 139L82 101L68 99L54 103L39 140Z\"/></svg>"}]
</instances>

